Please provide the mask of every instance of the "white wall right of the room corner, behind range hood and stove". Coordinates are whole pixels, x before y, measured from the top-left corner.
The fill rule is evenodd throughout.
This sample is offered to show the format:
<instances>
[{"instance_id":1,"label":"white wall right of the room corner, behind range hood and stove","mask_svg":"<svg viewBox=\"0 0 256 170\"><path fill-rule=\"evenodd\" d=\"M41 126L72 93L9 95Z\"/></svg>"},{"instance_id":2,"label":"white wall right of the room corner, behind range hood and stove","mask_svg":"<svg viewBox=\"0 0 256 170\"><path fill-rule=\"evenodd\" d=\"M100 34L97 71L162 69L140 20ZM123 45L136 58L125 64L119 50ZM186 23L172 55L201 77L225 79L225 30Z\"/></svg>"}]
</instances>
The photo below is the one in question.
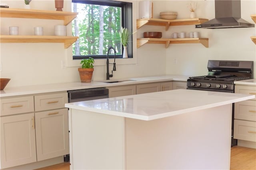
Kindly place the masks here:
<instances>
[{"instance_id":1,"label":"white wall right of the room corner, behind range hood and stove","mask_svg":"<svg viewBox=\"0 0 256 170\"><path fill-rule=\"evenodd\" d=\"M196 1L196 17L215 18L214 0ZM178 12L177 19L189 18L188 1L155 1L154 14L163 11ZM254 23L250 15L256 14L256 0L241 0L241 17ZM174 44L166 50L166 74L205 75L208 60L254 61L256 78L256 45L250 39L256 28L195 29L194 25L170 27L166 37L173 32L200 31L209 38L209 48L201 44ZM187 35L188 36L188 35ZM177 61L177 64L175 64Z\"/></svg>"}]
</instances>

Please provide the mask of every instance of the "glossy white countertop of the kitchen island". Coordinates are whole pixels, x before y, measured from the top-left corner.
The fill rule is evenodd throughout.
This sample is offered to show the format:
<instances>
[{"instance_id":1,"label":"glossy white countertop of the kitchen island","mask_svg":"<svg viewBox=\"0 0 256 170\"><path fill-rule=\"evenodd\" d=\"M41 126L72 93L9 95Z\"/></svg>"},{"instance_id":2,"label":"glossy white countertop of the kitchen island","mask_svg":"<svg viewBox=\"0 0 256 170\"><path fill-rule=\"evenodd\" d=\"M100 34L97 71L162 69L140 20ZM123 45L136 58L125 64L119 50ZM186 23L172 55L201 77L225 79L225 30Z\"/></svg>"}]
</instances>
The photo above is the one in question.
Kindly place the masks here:
<instances>
[{"instance_id":1,"label":"glossy white countertop of the kitchen island","mask_svg":"<svg viewBox=\"0 0 256 170\"><path fill-rule=\"evenodd\" d=\"M74 102L65 104L65 107L140 120L154 120L232 104L254 97L254 95L246 94L178 89Z\"/></svg>"}]
</instances>

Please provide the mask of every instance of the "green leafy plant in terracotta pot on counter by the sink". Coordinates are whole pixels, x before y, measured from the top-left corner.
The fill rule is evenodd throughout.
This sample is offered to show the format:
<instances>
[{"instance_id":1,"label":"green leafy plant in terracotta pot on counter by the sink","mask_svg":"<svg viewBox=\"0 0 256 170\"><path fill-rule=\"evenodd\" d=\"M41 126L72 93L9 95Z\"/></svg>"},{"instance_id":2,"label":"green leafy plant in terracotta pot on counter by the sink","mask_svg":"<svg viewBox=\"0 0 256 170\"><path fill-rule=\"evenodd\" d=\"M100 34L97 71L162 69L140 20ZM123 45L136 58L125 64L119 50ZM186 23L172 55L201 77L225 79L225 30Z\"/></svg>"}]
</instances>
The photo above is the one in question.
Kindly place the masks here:
<instances>
[{"instance_id":1,"label":"green leafy plant in terracotta pot on counter by the sink","mask_svg":"<svg viewBox=\"0 0 256 170\"><path fill-rule=\"evenodd\" d=\"M88 59L83 59L80 64L82 68L78 68L81 82L91 82L92 73L94 71L94 59L89 57Z\"/></svg>"}]
</instances>

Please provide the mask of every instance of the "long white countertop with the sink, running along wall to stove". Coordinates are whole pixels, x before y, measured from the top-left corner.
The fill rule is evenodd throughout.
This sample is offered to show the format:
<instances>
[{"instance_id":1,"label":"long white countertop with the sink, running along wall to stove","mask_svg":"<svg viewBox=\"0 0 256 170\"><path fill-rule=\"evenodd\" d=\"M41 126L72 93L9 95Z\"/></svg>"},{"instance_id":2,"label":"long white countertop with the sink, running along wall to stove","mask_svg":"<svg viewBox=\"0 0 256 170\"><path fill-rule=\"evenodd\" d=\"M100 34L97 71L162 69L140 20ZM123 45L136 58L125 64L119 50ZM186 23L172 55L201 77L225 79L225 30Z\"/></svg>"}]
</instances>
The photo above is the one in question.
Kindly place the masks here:
<instances>
[{"instance_id":1,"label":"long white countertop with the sink, running along wall to stove","mask_svg":"<svg viewBox=\"0 0 256 170\"><path fill-rule=\"evenodd\" d=\"M19 86L19 87L9 87L9 88L7 84L4 90L0 90L0 97L29 95L29 94L38 94L38 93L48 93L48 92L61 92L61 91L79 90L79 89L88 89L88 88L121 86L121 85L160 82L160 81L172 81L172 80L187 81L188 77L189 76L183 76L183 75L160 75L160 76L118 79L119 81L134 80L134 81L125 81L125 82L118 82L118 83L105 83L97 80L90 83L68 82L68 83L42 84L42 85L34 85L34 86ZM112 80L108 80L108 81L116 81L116 80L117 79L112 78ZM102 80L102 81L107 81L107 80Z\"/></svg>"}]
</instances>

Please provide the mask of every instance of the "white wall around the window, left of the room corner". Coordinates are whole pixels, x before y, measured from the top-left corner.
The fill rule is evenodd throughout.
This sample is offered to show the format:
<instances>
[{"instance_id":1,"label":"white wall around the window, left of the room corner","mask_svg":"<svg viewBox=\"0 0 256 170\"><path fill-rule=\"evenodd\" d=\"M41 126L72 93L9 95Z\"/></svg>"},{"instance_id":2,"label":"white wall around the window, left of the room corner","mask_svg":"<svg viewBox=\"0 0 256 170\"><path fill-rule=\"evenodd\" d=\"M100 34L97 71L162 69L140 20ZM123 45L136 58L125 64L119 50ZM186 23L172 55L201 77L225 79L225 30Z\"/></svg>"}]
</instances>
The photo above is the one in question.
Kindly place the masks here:
<instances>
[{"instance_id":1,"label":"white wall around the window, left of the room corner","mask_svg":"<svg viewBox=\"0 0 256 170\"><path fill-rule=\"evenodd\" d=\"M10 8L24 8L23 0L1 0ZM136 18L136 1L134 2L134 18ZM56 10L54 0L32 0L34 10ZM71 0L65 0L63 11L71 11ZM33 35L33 27L43 26L44 35L54 35L54 25L62 25L59 20L39 20L21 18L0 18L1 35L8 35L9 26L19 26L19 35ZM134 20L136 28L136 20ZM68 35L71 35L71 24L68 25ZM136 35L134 35L136 36ZM135 37L136 39L136 37ZM117 59L114 78L126 78L165 74L165 50L156 48L149 51L148 47L136 49L134 59ZM154 48L155 46L152 46ZM72 58L71 47L64 49L62 43L1 43L0 64L1 78L11 78L8 87L49 84L58 82L80 82L77 68L80 64L67 63ZM155 57L158 57L157 63ZM62 62L65 67L62 68ZM112 63L112 60L110 60ZM124 64L126 62L134 64ZM96 60L93 80L106 79L106 60ZM120 64L122 63L122 64ZM154 69L152 69L154 67ZM112 66L110 65L110 69ZM111 72L111 70L110 70Z\"/></svg>"}]
</instances>

